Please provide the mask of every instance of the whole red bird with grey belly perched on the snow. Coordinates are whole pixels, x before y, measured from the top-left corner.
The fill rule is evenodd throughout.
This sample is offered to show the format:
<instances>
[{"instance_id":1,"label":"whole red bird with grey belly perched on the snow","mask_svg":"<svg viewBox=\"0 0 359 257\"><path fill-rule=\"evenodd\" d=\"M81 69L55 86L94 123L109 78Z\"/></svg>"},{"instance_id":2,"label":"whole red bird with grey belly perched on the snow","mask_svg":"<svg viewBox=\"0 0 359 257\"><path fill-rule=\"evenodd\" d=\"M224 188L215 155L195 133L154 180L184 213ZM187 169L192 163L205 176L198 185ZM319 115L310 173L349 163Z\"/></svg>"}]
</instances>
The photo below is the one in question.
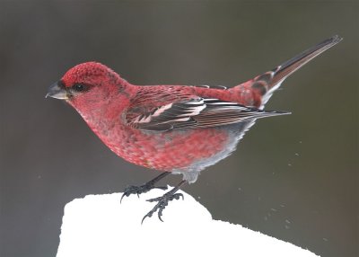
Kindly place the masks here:
<instances>
[{"instance_id":1,"label":"whole red bird with grey belly perched on the snow","mask_svg":"<svg viewBox=\"0 0 359 257\"><path fill-rule=\"evenodd\" d=\"M288 114L264 111L272 93L288 75L336 45L334 36L308 49L275 69L230 89L192 85L146 85L128 83L109 67L97 62L74 66L47 96L74 107L92 131L116 155L130 163L162 172L142 186L130 186L124 196L156 187L169 173L180 173L183 181L157 201L145 217L152 217L185 183L196 182L206 167L231 155L244 133L259 118ZM121 200L122 200L121 198ZM144 221L144 219L143 219Z\"/></svg>"}]
</instances>

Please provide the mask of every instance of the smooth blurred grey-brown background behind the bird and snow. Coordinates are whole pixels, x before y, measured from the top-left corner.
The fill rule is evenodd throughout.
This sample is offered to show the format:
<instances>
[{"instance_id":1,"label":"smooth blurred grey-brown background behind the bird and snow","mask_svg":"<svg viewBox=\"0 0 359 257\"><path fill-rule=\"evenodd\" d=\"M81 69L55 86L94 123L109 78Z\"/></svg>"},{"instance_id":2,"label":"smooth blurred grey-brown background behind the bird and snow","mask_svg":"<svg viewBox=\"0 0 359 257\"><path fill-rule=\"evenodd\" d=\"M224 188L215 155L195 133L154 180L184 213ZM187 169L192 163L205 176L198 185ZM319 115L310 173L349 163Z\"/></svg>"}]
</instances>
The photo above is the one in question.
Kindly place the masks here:
<instances>
[{"instance_id":1,"label":"smooth blurred grey-brown background behind the bird and snow","mask_svg":"<svg viewBox=\"0 0 359 257\"><path fill-rule=\"evenodd\" d=\"M71 66L96 60L133 84L232 86L339 34L267 104L293 114L258 120L184 191L215 219L358 256L358 12L355 1L0 2L0 255L55 256L67 202L158 174L44 98Z\"/></svg>"}]
</instances>

